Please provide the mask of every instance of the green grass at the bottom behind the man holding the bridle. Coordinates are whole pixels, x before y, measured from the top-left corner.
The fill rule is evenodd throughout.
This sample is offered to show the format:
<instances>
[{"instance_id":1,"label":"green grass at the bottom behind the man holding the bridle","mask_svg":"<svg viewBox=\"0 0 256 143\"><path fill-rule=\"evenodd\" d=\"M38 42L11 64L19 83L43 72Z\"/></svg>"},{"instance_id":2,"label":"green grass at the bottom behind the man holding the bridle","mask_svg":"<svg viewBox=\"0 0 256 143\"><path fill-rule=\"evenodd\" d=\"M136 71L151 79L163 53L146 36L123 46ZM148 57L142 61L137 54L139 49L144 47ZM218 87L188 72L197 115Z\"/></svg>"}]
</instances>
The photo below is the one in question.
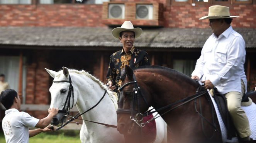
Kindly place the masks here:
<instances>
[{"instance_id":1,"label":"green grass at the bottom behind the man holding the bridle","mask_svg":"<svg viewBox=\"0 0 256 143\"><path fill-rule=\"evenodd\" d=\"M29 138L29 143L81 143L79 132L80 131L59 130L57 132L40 133ZM5 137L2 132L0 133L0 143L5 143Z\"/></svg>"}]
</instances>

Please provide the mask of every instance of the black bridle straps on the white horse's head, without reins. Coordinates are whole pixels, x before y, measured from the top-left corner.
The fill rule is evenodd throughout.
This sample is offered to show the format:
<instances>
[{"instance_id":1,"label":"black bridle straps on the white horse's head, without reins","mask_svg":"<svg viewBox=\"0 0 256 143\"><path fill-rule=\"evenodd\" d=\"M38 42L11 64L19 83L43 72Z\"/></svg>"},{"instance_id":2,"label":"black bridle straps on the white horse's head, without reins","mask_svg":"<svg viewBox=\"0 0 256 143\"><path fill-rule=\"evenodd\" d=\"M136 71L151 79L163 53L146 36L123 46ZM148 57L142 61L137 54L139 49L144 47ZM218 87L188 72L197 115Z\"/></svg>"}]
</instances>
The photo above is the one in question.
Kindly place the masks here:
<instances>
[{"instance_id":1,"label":"black bridle straps on the white horse's head, without reins","mask_svg":"<svg viewBox=\"0 0 256 143\"><path fill-rule=\"evenodd\" d=\"M64 104L64 107L63 107L63 110L59 110L58 113L66 113L66 115L68 115L70 113L70 109L73 108L74 106L74 88L72 86L72 81L71 81L71 77L69 75L69 81L68 80L60 80L60 81L53 81L53 82L68 82L70 83L70 87L68 89L68 96L66 98L66 101L65 101L65 104ZM73 104L72 104L72 107L70 108L70 98L71 98L71 92L72 92L72 96L73 96ZM68 103L68 108L67 110L65 109L66 107L66 104Z\"/></svg>"}]
</instances>

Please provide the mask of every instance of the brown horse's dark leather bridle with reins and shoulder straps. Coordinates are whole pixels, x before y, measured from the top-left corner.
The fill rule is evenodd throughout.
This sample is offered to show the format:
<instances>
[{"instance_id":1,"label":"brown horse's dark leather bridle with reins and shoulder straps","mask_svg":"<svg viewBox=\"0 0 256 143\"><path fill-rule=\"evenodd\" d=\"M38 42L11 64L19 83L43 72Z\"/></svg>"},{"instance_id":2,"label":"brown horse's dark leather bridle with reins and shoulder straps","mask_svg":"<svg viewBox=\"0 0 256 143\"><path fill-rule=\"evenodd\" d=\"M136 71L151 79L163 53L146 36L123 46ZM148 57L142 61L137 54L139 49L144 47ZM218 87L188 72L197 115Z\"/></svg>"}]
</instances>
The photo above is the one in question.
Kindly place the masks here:
<instances>
[{"instance_id":1,"label":"brown horse's dark leather bridle with reins and shoulder straps","mask_svg":"<svg viewBox=\"0 0 256 143\"><path fill-rule=\"evenodd\" d=\"M148 105L148 103L147 103L147 100L146 100L145 96L143 95L143 93L142 93L142 91L141 91L141 88L140 88L139 85L137 84L137 80L136 80L136 77L135 77L134 73L133 73L133 78L134 78L134 81L129 81L129 82L127 82L127 83L124 83L124 85L122 85L120 88L118 88L118 90L121 92L121 90L122 90L125 86L134 83L133 96L132 96L132 109L130 110L130 109L121 109L121 108L119 108L119 109L117 109L117 114L119 114L119 113L131 113L130 119L133 120L134 122L136 122L137 125L139 125L140 127L144 127L147 123L149 123L149 122L155 120L156 118L158 118L158 117L160 117L160 116L166 114L167 112L169 112L169 111L171 111L171 110L174 110L174 109L176 109L176 108L178 108L178 107L180 107L180 106L182 106L182 105L184 105L184 104L186 104L186 103L188 103L188 102L190 102L190 101L192 101L192 100L195 100L195 110L196 110L197 114L202 118L202 128L203 128L203 120L205 120L205 121L207 121L207 123L208 123L209 125L211 125L211 126L213 127L213 129L214 129L215 131L217 131L217 127L216 127L216 125L215 125L215 123L214 123L214 115L213 115L213 114L214 114L214 111L213 111L212 105L210 104L210 109L211 109L211 114L212 114L212 121L213 121L213 123L211 123L210 121L208 121L206 118L204 118L204 117L202 116L201 102L200 102L200 110L201 110L200 113L199 113L199 111L197 111L197 108L196 108L196 104L197 104L196 101L197 101L197 98L199 98L199 101L200 101L200 96L205 95L205 93L208 92L207 90L204 90L204 88L202 88L203 86L201 86L201 85L198 86L197 91L196 91L196 94L194 94L194 95L192 95L192 96L189 96L189 97L184 98L184 99L182 99L182 100L176 101L176 102L174 102L174 103L171 103L170 105L166 105L166 106L164 106L164 107L161 107L161 108L159 108L159 109L157 109L157 110L151 112L151 110L154 109L154 108L153 108L153 109L151 109L151 110L149 110L149 111L146 111L144 114L142 114L142 113L140 112L139 94L138 94L138 92L141 94L141 96L143 97L144 101L146 102L147 108L149 108L149 105ZM197 81L197 82L198 82L198 81ZM207 97L207 96L206 96L206 97ZM137 98L137 102L138 102L138 105L137 105L137 106L138 106L138 112L134 111L135 106L136 106L136 98ZM208 98L209 98L209 97L208 97ZM181 102L183 102L183 103L181 103ZM210 102L210 101L209 101L209 102ZM181 103L181 104L180 104L180 105L177 105L178 103ZM151 115L151 114L153 114L153 113L155 113L155 112L164 110L164 109L166 109L166 108L170 108L171 106L174 106L174 105L177 105L177 106L171 108L170 110L164 112L163 114L161 114L161 115L159 115L159 116L156 115L157 117L153 117L153 118L151 118L150 120L146 121L145 123L141 123L141 124L139 123L139 122L141 122L141 121L143 120L143 117L148 116L148 115ZM135 118L133 117L134 113L136 113ZM158 114L159 114L159 113L158 113ZM137 117L138 117L139 115L140 115L141 118L142 118L141 120L137 119ZM204 134L205 134L204 129L203 129L203 132L204 132ZM206 135L205 135L205 136L206 136ZM211 138L213 138L213 136L214 136L214 134L212 135ZM207 138L208 138L208 137L207 137ZM209 139L211 139L211 138L209 138Z\"/></svg>"}]
</instances>

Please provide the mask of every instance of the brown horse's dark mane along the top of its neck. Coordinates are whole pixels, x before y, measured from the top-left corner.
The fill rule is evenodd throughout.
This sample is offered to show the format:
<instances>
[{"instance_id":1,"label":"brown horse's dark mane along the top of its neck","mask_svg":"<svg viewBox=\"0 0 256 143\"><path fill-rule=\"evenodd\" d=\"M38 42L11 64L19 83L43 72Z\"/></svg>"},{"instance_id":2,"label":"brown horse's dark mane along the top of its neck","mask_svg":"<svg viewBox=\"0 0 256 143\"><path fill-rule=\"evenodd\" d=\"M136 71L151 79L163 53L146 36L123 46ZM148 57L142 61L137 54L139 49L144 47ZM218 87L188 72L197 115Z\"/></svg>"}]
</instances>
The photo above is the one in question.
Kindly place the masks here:
<instances>
[{"instance_id":1,"label":"brown horse's dark mane along the top of its neck","mask_svg":"<svg viewBox=\"0 0 256 143\"><path fill-rule=\"evenodd\" d=\"M197 86L197 83L195 82L195 80L192 80L189 76L173 70L171 68L167 68L167 67L162 67L162 66L158 66L158 65L152 65L152 66L140 66L140 67L136 67L136 68L132 68L132 70L140 70L140 69L149 69L149 70L159 70L160 72L164 72L166 73L165 76L167 76L168 78L180 78L180 80L185 81L193 86ZM175 76L173 76L175 75Z\"/></svg>"}]
</instances>

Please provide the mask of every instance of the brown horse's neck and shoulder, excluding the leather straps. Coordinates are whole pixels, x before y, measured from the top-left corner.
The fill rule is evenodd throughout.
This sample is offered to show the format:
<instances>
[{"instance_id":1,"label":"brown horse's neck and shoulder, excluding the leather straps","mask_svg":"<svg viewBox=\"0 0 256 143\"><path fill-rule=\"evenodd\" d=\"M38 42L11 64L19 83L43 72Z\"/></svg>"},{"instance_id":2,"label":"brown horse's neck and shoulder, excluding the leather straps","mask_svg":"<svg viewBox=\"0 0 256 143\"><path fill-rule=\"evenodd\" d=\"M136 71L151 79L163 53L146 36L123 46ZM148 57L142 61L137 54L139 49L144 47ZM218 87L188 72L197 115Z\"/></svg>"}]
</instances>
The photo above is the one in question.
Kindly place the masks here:
<instances>
[{"instance_id":1,"label":"brown horse's neck and shoulder, excluding the leather straps","mask_svg":"<svg viewBox=\"0 0 256 143\"><path fill-rule=\"evenodd\" d=\"M152 67L153 69L142 68L135 70L138 85L151 102L149 106L153 106L156 110L170 105L176 101L182 100L186 97L192 96L196 93L198 83L177 71ZM159 69L158 69L159 68ZM136 72L137 71L137 72ZM150 99L152 98L152 99ZM199 105L199 98L196 103L195 100L182 105L175 110L169 111L161 116L167 125L170 127L170 136L172 142L176 143L217 143L221 142L221 135L219 130L216 132L213 127L205 123L203 128L207 136L215 136L212 140L208 140L203 135L202 119L197 115L195 108L200 111L202 115L212 122L212 115L210 113L209 104L204 96L200 97L201 105ZM177 105L175 105L177 106ZM159 115L175 107L158 111ZM219 128L217 116L214 114L214 121Z\"/></svg>"}]
</instances>

